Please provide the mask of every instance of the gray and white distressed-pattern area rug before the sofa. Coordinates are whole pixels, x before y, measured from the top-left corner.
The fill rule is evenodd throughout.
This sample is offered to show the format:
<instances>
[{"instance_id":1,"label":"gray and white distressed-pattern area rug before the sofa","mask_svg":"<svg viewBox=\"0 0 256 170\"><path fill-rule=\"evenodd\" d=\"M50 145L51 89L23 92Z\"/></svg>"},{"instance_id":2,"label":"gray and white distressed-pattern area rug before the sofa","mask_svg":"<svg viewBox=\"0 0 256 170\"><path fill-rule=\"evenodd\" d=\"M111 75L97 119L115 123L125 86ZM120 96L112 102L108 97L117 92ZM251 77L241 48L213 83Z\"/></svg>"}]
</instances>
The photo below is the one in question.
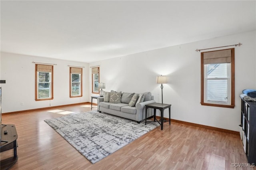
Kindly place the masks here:
<instances>
[{"instance_id":1,"label":"gray and white distressed-pattern area rug before the sofa","mask_svg":"<svg viewBox=\"0 0 256 170\"><path fill-rule=\"evenodd\" d=\"M159 126L97 111L44 121L93 164Z\"/></svg>"}]
</instances>

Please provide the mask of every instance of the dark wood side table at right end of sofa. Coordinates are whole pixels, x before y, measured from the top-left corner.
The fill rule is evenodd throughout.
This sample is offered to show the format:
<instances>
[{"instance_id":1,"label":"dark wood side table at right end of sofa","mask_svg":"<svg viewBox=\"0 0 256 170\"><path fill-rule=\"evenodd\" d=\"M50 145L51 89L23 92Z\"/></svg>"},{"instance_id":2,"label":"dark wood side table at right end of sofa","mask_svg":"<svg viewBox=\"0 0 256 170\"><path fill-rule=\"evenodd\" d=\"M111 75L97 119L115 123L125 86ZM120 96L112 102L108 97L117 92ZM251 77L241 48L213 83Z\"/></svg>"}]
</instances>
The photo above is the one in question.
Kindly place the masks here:
<instances>
[{"instance_id":1,"label":"dark wood side table at right end of sofa","mask_svg":"<svg viewBox=\"0 0 256 170\"><path fill-rule=\"evenodd\" d=\"M145 105L146 107L146 119L145 119L145 125L147 125L147 111L148 108L154 109L154 122L157 121L161 125L161 130L163 130L163 125L164 125L164 109L169 108L169 125L171 125L171 105L170 104L162 104L162 103L151 103L148 105ZM156 109L159 109L161 112L161 118L160 122L156 119Z\"/></svg>"}]
</instances>

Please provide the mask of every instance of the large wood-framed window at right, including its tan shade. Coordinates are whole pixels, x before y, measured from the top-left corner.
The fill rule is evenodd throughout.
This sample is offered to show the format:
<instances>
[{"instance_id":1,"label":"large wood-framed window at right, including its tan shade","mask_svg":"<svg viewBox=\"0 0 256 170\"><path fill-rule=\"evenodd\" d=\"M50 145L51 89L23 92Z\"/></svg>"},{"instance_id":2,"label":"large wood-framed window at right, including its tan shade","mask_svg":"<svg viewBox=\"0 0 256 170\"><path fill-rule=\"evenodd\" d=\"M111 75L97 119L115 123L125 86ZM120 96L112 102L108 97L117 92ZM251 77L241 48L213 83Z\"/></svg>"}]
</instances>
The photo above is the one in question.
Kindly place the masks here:
<instances>
[{"instance_id":1,"label":"large wood-framed window at right, including its tan shade","mask_svg":"<svg viewBox=\"0 0 256 170\"><path fill-rule=\"evenodd\" d=\"M234 108L234 48L201 53L201 105Z\"/></svg>"}]
</instances>

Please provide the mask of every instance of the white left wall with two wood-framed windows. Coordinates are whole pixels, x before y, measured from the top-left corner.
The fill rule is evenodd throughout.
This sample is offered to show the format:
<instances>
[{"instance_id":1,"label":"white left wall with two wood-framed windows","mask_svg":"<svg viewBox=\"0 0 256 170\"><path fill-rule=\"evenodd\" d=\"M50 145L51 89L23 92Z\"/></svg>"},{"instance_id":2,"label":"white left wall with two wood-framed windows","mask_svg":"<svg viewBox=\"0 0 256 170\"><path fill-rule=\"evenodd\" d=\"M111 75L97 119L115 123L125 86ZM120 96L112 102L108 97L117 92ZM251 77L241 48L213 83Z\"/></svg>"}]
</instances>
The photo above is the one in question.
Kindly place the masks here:
<instances>
[{"instance_id":1,"label":"white left wall with two wood-framed windows","mask_svg":"<svg viewBox=\"0 0 256 170\"><path fill-rule=\"evenodd\" d=\"M54 99L35 101L35 64L54 65ZM69 97L69 67L83 68L83 97ZM88 63L1 52L2 113L88 102ZM24 105L21 105L21 102Z\"/></svg>"}]
</instances>

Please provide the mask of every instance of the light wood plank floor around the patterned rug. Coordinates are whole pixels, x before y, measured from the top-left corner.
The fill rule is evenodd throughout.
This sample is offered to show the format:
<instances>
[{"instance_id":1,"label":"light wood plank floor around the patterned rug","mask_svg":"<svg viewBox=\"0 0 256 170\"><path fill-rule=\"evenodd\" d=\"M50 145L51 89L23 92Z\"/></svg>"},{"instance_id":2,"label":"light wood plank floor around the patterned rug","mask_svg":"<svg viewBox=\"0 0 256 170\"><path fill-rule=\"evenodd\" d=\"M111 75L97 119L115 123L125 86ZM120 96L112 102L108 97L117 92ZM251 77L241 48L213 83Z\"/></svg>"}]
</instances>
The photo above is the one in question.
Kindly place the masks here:
<instances>
[{"instance_id":1,"label":"light wood plank floor around the patterned rug","mask_svg":"<svg viewBox=\"0 0 256 170\"><path fill-rule=\"evenodd\" d=\"M44 122L45 119L61 117L64 114L86 111L90 111L90 105L3 115L2 123L14 124L18 132L18 161L10 169L253 169L230 166L231 163L247 163L239 135L175 122L171 122L170 126L166 122L163 130L160 127L155 128L99 162L91 164ZM2 152L1 160L12 154L12 150Z\"/></svg>"}]
</instances>

